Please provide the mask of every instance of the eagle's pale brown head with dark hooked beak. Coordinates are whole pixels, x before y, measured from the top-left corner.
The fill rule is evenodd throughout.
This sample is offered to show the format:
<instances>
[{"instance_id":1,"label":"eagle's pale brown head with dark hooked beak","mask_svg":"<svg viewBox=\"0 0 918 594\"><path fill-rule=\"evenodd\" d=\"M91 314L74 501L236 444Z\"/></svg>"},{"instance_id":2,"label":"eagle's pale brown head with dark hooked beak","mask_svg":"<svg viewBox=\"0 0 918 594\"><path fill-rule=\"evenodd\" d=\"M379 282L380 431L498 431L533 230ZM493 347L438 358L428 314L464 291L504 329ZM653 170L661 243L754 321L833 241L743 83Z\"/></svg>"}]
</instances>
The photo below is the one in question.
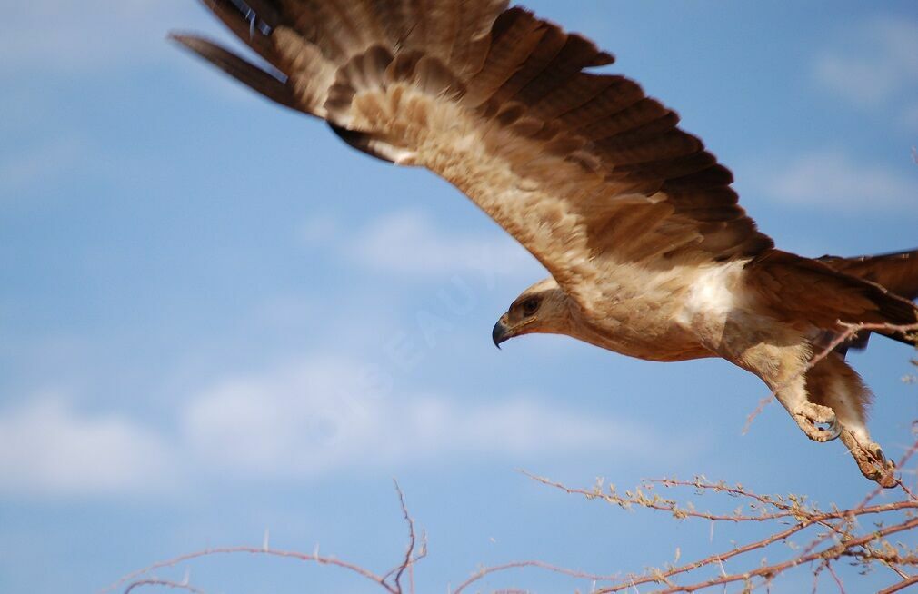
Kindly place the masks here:
<instances>
[{"instance_id":1,"label":"eagle's pale brown head with dark hooked beak","mask_svg":"<svg viewBox=\"0 0 918 594\"><path fill-rule=\"evenodd\" d=\"M500 348L510 338L528 334L569 334L571 302L554 279L522 292L494 325L491 337Z\"/></svg>"}]
</instances>

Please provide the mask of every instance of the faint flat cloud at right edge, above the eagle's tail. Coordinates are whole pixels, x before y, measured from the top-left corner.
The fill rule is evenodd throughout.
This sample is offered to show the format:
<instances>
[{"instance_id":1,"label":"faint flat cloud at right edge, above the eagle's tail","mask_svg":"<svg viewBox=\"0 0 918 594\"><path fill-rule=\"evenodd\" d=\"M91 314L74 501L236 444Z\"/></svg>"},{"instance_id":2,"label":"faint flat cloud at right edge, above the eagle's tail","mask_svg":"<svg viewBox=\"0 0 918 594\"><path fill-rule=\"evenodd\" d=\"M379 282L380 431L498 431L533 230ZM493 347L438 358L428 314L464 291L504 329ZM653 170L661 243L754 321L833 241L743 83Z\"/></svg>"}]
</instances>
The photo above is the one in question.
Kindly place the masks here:
<instances>
[{"instance_id":1,"label":"faint flat cloud at right edge, above the eagle's tail","mask_svg":"<svg viewBox=\"0 0 918 594\"><path fill-rule=\"evenodd\" d=\"M769 179L767 192L783 203L908 213L918 204L918 170L908 175L885 165L865 163L837 149L804 154L779 164Z\"/></svg>"}]
</instances>

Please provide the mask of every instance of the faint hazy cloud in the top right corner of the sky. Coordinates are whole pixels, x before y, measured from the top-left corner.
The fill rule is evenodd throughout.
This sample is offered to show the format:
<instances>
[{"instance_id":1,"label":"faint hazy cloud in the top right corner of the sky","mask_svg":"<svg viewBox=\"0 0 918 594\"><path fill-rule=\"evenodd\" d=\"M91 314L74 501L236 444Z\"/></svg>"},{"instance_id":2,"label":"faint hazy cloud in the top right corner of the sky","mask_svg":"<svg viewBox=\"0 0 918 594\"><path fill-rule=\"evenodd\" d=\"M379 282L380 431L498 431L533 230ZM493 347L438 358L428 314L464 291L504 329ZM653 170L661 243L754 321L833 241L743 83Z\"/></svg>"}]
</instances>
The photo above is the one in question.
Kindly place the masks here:
<instances>
[{"instance_id":1,"label":"faint hazy cloud in the top right corner of the sky","mask_svg":"<svg viewBox=\"0 0 918 594\"><path fill-rule=\"evenodd\" d=\"M859 24L816 57L813 73L858 106L908 99L918 89L918 22L876 17Z\"/></svg>"}]
</instances>

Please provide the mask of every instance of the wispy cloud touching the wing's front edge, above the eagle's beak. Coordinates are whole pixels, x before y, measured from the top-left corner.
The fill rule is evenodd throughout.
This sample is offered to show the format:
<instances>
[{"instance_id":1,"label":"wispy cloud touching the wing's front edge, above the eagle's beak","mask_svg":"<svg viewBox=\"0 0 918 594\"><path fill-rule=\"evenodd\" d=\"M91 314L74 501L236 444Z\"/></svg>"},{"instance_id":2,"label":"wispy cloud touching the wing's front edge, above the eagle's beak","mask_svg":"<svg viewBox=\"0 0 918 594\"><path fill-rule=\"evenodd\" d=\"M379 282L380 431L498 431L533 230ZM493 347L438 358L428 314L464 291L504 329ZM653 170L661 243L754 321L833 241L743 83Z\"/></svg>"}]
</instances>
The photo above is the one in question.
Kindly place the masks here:
<instances>
[{"instance_id":1,"label":"wispy cloud touching the wing's front edge, above the eagle's beak","mask_svg":"<svg viewBox=\"0 0 918 594\"><path fill-rule=\"evenodd\" d=\"M380 272L441 278L477 272L532 281L545 276L538 262L499 228L487 235L447 229L414 210L388 214L350 233L328 215L310 219L302 229L309 243L330 244Z\"/></svg>"}]
</instances>

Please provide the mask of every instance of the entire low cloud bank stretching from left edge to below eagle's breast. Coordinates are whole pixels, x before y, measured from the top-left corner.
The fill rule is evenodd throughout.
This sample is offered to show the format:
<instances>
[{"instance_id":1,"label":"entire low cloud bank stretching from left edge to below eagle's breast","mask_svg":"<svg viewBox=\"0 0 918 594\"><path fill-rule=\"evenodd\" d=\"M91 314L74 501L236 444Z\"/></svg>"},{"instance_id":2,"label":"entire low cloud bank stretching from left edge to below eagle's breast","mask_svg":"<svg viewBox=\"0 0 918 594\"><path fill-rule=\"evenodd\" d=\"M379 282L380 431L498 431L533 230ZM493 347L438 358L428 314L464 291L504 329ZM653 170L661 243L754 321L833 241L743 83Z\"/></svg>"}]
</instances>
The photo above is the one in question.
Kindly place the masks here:
<instances>
[{"instance_id":1,"label":"entire low cloud bank stretching from left edge to below eagle's breast","mask_svg":"<svg viewBox=\"0 0 918 594\"><path fill-rule=\"evenodd\" d=\"M444 460L653 457L654 444L668 443L535 397L395 390L375 366L328 356L215 380L185 402L164 428L81 412L62 396L0 411L0 495L168 495L215 475L308 480Z\"/></svg>"}]
</instances>

